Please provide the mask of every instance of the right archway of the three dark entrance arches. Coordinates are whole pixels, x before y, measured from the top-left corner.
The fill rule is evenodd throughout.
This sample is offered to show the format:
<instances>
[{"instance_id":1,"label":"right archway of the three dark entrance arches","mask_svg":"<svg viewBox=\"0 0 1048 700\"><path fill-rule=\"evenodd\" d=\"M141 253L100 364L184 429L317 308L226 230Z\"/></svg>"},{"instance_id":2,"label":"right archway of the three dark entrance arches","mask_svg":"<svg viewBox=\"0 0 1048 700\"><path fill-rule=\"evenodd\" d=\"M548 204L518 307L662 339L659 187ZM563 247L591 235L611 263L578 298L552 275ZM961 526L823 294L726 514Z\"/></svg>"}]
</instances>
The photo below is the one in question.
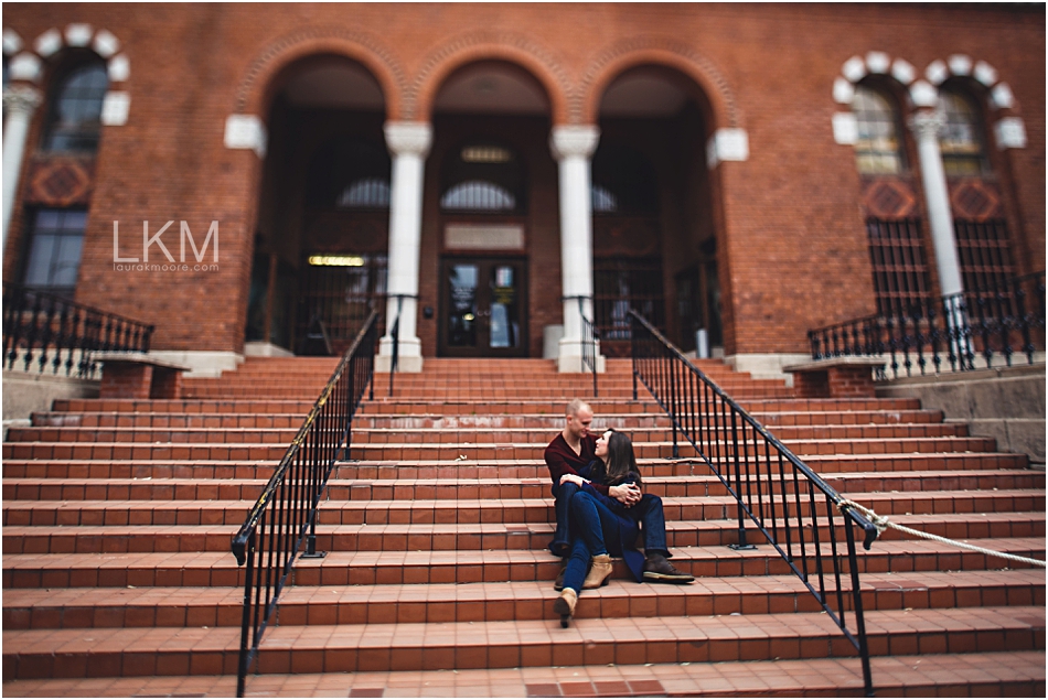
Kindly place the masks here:
<instances>
[{"instance_id":1,"label":"right archway of the three dark entrance arches","mask_svg":"<svg viewBox=\"0 0 1048 700\"><path fill-rule=\"evenodd\" d=\"M629 352L631 306L684 351L724 344L720 270L697 86L655 65L627 69L600 100L592 162L595 322L601 349Z\"/></svg>"}]
</instances>

